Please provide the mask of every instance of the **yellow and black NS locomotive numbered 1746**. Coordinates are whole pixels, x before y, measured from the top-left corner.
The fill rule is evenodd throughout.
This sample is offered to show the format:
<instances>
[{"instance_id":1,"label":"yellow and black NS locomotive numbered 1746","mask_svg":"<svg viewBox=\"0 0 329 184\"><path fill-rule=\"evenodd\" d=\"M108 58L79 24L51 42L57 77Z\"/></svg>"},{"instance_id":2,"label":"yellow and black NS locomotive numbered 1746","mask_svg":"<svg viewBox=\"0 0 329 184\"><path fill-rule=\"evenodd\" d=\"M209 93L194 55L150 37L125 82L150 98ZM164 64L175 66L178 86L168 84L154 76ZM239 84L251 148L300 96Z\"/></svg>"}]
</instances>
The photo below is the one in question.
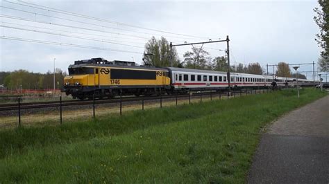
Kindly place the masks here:
<instances>
[{"instance_id":1,"label":"yellow and black NS locomotive numbered 1746","mask_svg":"<svg viewBox=\"0 0 329 184\"><path fill-rule=\"evenodd\" d=\"M92 58L74 62L64 78L63 90L73 98L152 95L170 89L166 68L135 66L134 62Z\"/></svg>"}]
</instances>

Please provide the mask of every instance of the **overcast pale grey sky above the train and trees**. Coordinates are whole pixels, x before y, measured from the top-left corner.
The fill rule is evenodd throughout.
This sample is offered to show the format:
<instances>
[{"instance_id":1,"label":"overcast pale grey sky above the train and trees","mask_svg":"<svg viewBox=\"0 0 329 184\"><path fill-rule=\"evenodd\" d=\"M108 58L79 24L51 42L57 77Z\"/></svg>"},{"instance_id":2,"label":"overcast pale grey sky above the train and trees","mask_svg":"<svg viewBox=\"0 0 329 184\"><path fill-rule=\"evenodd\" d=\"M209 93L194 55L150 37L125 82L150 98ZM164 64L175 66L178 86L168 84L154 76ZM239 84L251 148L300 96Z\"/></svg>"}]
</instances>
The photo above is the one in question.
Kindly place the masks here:
<instances>
[{"instance_id":1,"label":"overcast pale grey sky above the train and trees","mask_svg":"<svg viewBox=\"0 0 329 184\"><path fill-rule=\"evenodd\" d=\"M319 33L319 28L313 21L315 14L312 9L318 6L315 0L56 0L10 2L14 3L1 1L1 16L6 17L0 18L0 36L2 38L0 39L0 71L25 69L45 73L48 70L53 70L54 58L56 58L56 68L61 68L65 71L67 71L67 66L72 64L74 60L90 59L92 57L128 61L135 59L135 62L141 64L144 44L153 35L157 38L160 38L162 35L169 42L176 44L183 44L184 42L206 42L209 38L214 41L219 38L225 39L226 35L229 35L231 40L231 64L259 62L265 71L266 64L277 64L278 62L287 62L289 64L310 63L313 61L317 62L317 58L319 57L320 50L314 41L315 34ZM31 7L36 5L39 7L48 7L44 9L56 8L58 10L65 10L68 13L74 12L79 15L101 18L106 21L95 21ZM10 19L8 16L15 19ZM120 24L112 24L110 21L116 21ZM48 24L42 24L40 22ZM122 25L121 23L128 24L129 26ZM65 26L56 26L54 24ZM140 28L132 26L138 26ZM141 28L151 28L202 38ZM30 42L3 39L8 37L30 39ZM81 39L82 37L87 37L87 39ZM89 39L103 39L106 42L95 42ZM31 42L31 40L34 41ZM40 44L34 43L35 40L88 46L97 49ZM129 46L118 45L118 43ZM207 44L204 47L205 50L210 52L212 57L225 55L223 51L216 50L226 49L225 43ZM106 50L100 50L99 48ZM180 59L183 59L183 53L190 49L190 46L178 47L177 50L180 54ZM125 52L115 52L112 50L123 50ZM312 66L301 66L299 70L312 71ZM272 71L272 68L269 68L269 71ZM308 77L311 77L311 73L308 73Z\"/></svg>"}]
</instances>

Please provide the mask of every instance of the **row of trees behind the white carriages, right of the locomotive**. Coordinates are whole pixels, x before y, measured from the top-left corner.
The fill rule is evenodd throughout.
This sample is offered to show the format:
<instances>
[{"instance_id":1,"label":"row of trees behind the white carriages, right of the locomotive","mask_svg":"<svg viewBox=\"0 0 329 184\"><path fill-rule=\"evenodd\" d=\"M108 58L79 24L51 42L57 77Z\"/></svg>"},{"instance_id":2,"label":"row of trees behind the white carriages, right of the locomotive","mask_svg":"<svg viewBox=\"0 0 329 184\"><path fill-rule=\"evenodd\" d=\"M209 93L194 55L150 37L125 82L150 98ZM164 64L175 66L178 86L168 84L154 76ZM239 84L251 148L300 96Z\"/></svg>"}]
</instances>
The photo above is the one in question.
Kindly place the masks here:
<instances>
[{"instance_id":1,"label":"row of trees behind the white carriages, right of the locomotive","mask_svg":"<svg viewBox=\"0 0 329 184\"><path fill-rule=\"evenodd\" d=\"M226 56L210 57L203 48L192 47L183 54L183 61L178 57L176 48L170 48L170 44L164 37L157 40L152 37L145 44L144 64L155 67L180 67L194 68L212 71L228 71L228 63ZM264 75L262 66L258 62L252 62L248 65L237 64L230 66L230 71L235 73L250 73L256 75ZM289 65L285 62L280 62L277 66L276 76L278 77L295 77L296 75L290 71ZM298 73L298 78L306 79L305 75Z\"/></svg>"}]
</instances>

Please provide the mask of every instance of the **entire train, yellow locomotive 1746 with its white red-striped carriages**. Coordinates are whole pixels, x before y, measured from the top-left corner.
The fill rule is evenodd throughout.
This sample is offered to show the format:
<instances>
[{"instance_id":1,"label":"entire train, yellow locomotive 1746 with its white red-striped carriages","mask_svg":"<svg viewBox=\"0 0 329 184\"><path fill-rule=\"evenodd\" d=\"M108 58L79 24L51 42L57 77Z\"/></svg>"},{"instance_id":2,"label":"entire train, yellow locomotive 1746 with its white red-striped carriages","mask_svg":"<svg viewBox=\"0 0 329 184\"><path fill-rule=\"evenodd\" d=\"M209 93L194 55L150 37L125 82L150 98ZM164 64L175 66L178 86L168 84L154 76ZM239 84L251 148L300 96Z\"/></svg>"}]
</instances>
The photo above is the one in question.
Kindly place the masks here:
<instances>
[{"instance_id":1,"label":"entire train, yellow locomotive 1746 with its white red-striped carriages","mask_svg":"<svg viewBox=\"0 0 329 184\"><path fill-rule=\"evenodd\" d=\"M228 89L228 75L221 71L190 68L137 66L135 62L92 58L69 65L62 91L80 100L114 98L117 95L160 95L200 90ZM264 88L294 86L291 77L230 73L230 87ZM314 81L298 79L298 86L313 86Z\"/></svg>"}]
</instances>

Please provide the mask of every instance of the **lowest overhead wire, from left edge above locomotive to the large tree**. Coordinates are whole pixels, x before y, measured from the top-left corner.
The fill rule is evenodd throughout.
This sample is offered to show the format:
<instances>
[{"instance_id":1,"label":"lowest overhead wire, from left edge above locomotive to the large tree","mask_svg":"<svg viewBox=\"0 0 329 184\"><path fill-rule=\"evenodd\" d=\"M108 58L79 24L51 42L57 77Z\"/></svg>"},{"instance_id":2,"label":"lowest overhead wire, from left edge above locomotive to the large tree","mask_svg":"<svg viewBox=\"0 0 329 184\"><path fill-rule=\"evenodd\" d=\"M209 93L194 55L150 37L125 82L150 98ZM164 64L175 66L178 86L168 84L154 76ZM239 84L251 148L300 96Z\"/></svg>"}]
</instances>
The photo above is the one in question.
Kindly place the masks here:
<instances>
[{"instance_id":1,"label":"lowest overhead wire, from left edge above locomotive to the large tree","mask_svg":"<svg viewBox=\"0 0 329 184\"><path fill-rule=\"evenodd\" d=\"M112 48L101 48L96 46L85 46L85 45L78 45L78 44L67 44L67 43L61 43L61 42L49 42L45 40L37 40L37 39L26 39L22 37L6 37L6 36L0 36L1 39L11 39L16 41L22 41L22 42L34 42L34 43L40 43L40 44L51 44L51 45L57 45L57 46L71 46L71 47L78 47L78 48L90 48L95 50L109 50L112 52L119 52L119 53L135 53L135 54L143 54L140 52L135 51L128 51L128 50L118 50L118 49L112 49Z\"/></svg>"}]
</instances>

